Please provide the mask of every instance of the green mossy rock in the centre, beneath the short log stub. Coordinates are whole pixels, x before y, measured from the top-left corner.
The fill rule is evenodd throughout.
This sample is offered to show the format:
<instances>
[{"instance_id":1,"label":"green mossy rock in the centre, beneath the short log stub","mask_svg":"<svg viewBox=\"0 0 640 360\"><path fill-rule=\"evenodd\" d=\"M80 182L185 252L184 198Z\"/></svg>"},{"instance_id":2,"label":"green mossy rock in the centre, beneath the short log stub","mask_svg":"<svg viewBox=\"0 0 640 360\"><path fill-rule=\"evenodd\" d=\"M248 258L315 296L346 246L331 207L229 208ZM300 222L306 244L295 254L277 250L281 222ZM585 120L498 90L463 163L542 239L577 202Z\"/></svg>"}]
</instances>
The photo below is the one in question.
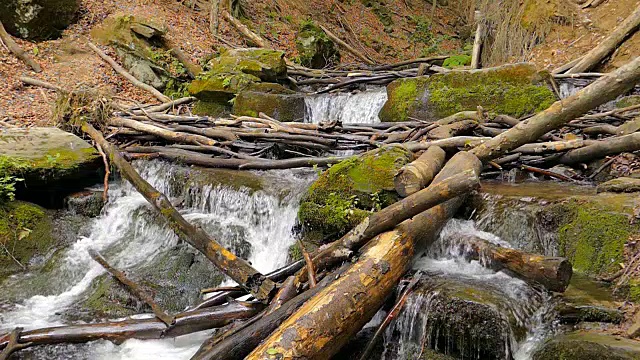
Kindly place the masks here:
<instances>
[{"instance_id":1,"label":"green mossy rock in the centre, beneath the short log stub","mask_svg":"<svg viewBox=\"0 0 640 360\"><path fill-rule=\"evenodd\" d=\"M335 240L371 210L398 200L393 177L413 154L385 146L344 160L326 170L305 194L298 219L311 240Z\"/></svg>"}]
</instances>

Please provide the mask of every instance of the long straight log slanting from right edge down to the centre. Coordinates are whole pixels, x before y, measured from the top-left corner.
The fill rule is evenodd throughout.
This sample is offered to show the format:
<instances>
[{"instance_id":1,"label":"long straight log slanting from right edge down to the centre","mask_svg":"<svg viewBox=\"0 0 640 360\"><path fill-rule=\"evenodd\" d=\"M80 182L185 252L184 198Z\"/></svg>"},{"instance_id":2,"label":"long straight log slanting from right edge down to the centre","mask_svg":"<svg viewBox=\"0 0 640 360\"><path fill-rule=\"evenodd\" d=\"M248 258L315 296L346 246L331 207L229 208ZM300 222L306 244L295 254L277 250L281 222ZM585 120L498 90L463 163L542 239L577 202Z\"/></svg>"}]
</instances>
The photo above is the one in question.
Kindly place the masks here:
<instances>
[{"instance_id":1,"label":"long straight log slanting from right edge down to the centre","mask_svg":"<svg viewBox=\"0 0 640 360\"><path fill-rule=\"evenodd\" d=\"M518 125L474 148L471 152L482 161L500 157L519 146L533 142L587 111L615 99L640 80L640 56L616 71L600 77L576 94L556 101L548 109L521 121Z\"/></svg>"}]
</instances>

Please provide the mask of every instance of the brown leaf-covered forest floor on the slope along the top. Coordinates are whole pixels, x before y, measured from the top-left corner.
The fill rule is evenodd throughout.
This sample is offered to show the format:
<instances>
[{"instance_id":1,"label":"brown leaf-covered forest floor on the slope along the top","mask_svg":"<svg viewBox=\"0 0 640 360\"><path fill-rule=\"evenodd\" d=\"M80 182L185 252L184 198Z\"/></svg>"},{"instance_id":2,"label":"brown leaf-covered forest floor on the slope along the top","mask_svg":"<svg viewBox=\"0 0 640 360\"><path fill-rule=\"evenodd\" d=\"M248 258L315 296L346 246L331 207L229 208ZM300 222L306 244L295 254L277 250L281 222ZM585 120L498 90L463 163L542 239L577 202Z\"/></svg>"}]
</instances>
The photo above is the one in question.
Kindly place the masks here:
<instances>
[{"instance_id":1,"label":"brown leaf-covered forest floor on the slope along the top","mask_svg":"<svg viewBox=\"0 0 640 360\"><path fill-rule=\"evenodd\" d=\"M455 3L437 6L433 13L431 1L387 0L384 7L380 3L257 0L244 6L243 21L290 58L297 56L296 32L300 21L305 19L327 26L379 63L455 55L472 42L473 28L466 25L463 15L467 10L456 8ZM570 22L555 24L529 56L512 60L531 61L545 69L566 63L591 49L639 3L640 0L608 0L595 9L580 10ZM0 79L5 80L0 87L0 121L17 126L54 125L51 118L55 92L25 87L19 76L36 77L66 89L100 88L123 99L154 102L148 94L119 77L86 46L96 25L110 15L127 14L165 22L169 37L180 44L193 61L216 52L226 46L225 43L247 46L240 34L224 22L220 24L219 37L212 36L209 14L197 5L172 0L81 0L77 22L60 39L39 43L18 40L41 64L42 73L31 72L0 46ZM105 50L115 57L113 52ZM604 70L620 66L638 53L640 33L614 54ZM343 51L342 55L341 65L348 67L356 62L349 53Z\"/></svg>"}]
</instances>

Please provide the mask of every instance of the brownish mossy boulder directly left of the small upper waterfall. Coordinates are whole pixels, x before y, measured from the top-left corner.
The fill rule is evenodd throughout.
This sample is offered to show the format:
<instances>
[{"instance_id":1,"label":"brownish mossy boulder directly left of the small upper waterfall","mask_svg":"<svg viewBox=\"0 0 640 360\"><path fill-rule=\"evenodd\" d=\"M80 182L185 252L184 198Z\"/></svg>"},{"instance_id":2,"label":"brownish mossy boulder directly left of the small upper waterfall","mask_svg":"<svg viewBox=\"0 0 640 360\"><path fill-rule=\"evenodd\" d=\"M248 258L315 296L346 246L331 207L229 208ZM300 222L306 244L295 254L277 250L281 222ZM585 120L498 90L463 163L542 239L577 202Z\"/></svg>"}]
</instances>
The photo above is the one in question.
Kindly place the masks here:
<instances>
[{"instance_id":1,"label":"brownish mossy boulder directly left of the small upper waterfall","mask_svg":"<svg viewBox=\"0 0 640 360\"><path fill-rule=\"evenodd\" d=\"M266 91L254 89L264 88L263 85L273 85ZM279 84L260 83L250 87L250 91L241 91L233 103L235 115L257 117L259 113L280 121L300 121L304 119L305 102L302 95L296 95Z\"/></svg>"}]
</instances>

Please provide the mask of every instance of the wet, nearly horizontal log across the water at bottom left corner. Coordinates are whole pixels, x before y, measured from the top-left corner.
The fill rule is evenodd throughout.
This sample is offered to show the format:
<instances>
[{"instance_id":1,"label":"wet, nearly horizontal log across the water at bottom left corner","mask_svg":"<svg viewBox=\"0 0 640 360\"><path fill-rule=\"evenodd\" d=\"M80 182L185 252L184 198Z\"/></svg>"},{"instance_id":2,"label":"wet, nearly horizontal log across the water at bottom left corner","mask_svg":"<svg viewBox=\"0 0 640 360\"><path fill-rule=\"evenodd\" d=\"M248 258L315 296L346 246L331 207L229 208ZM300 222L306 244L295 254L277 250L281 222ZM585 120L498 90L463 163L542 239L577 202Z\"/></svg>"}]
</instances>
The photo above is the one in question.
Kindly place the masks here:
<instances>
[{"instance_id":1,"label":"wet, nearly horizontal log across the water at bottom left corner","mask_svg":"<svg viewBox=\"0 0 640 360\"><path fill-rule=\"evenodd\" d=\"M176 337L202 330L222 327L235 320L248 319L264 309L261 303L231 302L229 304L184 312L176 315L171 327L156 318L127 319L96 324L55 326L28 330L20 333L21 343L45 345L59 343L83 343L110 340L116 343L127 339L160 339ZM0 336L0 349L5 348L11 334Z\"/></svg>"}]
</instances>

